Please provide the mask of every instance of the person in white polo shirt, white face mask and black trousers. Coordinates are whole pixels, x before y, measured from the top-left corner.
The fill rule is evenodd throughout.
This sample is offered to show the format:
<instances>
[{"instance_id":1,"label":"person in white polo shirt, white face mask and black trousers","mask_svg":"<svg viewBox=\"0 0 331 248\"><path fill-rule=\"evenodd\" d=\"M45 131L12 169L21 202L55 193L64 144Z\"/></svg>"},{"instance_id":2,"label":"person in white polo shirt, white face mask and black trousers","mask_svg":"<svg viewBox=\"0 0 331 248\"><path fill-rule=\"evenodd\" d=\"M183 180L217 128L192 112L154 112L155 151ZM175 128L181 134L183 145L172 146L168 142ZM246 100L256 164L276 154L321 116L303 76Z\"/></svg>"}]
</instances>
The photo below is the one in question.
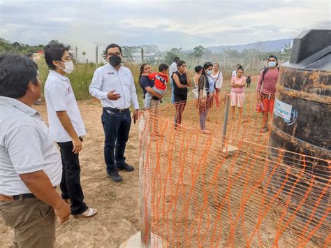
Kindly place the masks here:
<instances>
[{"instance_id":1,"label":"person in white polo shirt, white face mask and black trousers","mask_svg":"<svg viewBox=\"0 0 331 248\"><path fill-rule=\"evenodd\" d=\"M74 217L93 217L96 209L87 207L80 185L82 136L86 134L84 122L66 73L73 71L68 48L63 44L46 45L45 60L50 74L45 82L45 101L50 133L60 147L62 159L62 198L71 202Z\"/></svg>"}]
</instances>

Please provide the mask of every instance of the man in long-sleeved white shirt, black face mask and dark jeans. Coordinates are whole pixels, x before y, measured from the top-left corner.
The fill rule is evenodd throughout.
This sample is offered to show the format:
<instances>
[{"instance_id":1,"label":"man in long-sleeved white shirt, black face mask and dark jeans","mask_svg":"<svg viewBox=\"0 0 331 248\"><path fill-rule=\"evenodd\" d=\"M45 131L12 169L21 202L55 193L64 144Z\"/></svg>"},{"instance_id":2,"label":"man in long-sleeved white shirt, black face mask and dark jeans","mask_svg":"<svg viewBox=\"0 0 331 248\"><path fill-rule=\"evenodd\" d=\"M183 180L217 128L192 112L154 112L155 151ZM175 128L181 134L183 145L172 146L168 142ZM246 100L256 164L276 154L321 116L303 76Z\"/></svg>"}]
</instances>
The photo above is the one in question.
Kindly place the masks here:
<instances>
[{"instance_id":1,"label":"man in long-sleeved white shirt, black face mask and dark jeans","mask_svg":"<svg viewBox=\"0 0 331 248\"><path fill-rule=\"evenodd\" d=\"M122 49L110 44L105 49L108 64L96 69L89 86L89 93L101 100L103 114L101 121L105 132L105 163L109 177L122 182L117 170L133 171L125 162L125 147L131 126L129 107L134 107L133 122L138 119L139 103L131 71L121 65Z\"/></svg>"}]
</instances>

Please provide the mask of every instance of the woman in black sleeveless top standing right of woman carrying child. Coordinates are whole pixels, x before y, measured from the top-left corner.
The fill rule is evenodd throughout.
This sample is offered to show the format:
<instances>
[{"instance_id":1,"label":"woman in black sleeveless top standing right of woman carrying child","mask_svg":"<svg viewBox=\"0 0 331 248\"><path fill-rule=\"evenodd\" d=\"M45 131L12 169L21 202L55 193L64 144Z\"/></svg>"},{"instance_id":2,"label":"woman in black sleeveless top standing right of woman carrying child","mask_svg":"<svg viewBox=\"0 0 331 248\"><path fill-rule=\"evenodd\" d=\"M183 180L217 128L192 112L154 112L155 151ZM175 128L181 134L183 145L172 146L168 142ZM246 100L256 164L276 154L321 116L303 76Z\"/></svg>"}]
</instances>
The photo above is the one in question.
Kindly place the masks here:
<instances>
[{"instance_id":1,"label":"woman in black sleeveless top standing right of woman carrying child","mask_svg":"<svg viewBox=\"0 0 331 248\"><path fill-rule=\"evenodd\" d=\"M172 74L174 82L174 100L175 100L175 129L177 125L182 124L182 114L187 100L187 89L191 86L191 80L187 75L186 62L183 60L177 63L178 71Z\"/></svg>"}]
</instances>

